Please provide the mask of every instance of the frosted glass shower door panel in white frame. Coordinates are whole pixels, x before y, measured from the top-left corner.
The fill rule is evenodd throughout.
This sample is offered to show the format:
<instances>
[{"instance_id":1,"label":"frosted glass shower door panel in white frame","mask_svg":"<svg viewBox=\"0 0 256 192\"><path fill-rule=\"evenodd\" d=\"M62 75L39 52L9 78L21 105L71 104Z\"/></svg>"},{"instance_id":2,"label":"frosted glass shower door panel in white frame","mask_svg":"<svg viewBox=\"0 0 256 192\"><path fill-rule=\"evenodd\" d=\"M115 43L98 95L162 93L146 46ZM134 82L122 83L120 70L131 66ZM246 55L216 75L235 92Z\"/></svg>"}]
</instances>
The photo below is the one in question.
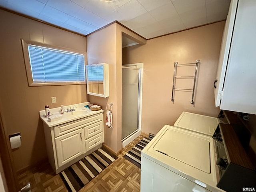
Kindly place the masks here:
<instances>
[{"instance_id":1,"label":"frosted glass shower door panel in white frame","mask_svg":"<svg viewBox=\"0 0 256 192\"><path fill-rule=\"evenodd\" d=\"M122 140L138 130L140 69L122 67Z\"/></svg>"}]
</instances>

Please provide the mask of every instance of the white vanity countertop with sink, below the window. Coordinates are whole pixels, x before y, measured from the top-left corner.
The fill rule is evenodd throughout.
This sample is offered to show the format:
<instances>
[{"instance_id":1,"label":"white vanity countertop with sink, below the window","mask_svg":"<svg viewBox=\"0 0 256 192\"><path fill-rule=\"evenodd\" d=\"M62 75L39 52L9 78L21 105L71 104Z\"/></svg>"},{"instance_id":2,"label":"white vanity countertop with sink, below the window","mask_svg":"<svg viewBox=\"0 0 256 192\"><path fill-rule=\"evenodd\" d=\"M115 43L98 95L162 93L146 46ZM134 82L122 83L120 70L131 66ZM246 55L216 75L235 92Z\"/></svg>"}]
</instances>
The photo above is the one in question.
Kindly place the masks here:
<instances>
[{"instance_id":1,"label":"white vanity countertop with sink, below the window","mask_svg":"<svg viewBox=\"0 0 256 192\"><path fill-rule=\"evenodd\" d=\"M64 114L60 114L60 107L58 108L50 108L50 114L51 116L59 116L62 115L62 118L60 120L50 122L48 120L48 117L45 115L45 110L39 111L39 116L40 119L46 124L48 127L53 127L53 126L58 126L60 124L78 120L80 118L88 117L94 114L98 114L103 112L103 110L98 110L98 111L92 111L84 106L88 105L89 102L84 102L84 103L79 103L79 104L73 104L73 105L68 105L68 106L63 106L63 109L69 109L69 108L75 108L75 112L79 112L78 115L73 115L73 112L64 112Z\"/></svg>"}]
</instances>

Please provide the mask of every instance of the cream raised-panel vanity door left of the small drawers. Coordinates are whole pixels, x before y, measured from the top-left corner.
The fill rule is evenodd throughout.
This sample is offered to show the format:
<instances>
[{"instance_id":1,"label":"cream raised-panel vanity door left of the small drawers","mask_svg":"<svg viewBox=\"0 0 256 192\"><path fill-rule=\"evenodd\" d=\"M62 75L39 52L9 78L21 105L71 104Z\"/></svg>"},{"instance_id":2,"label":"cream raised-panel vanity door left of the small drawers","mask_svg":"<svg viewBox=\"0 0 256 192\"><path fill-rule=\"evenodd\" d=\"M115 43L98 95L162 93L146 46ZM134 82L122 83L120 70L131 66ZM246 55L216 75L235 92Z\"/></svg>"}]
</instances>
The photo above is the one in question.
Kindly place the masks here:
<instances>
[{"instance_id":1,"label":"cream raised-panel vanity door left of the small drawers","mask_svg":"<svg viewBox=\"0 0 256 192\"><path fill-rule=\"evenodd\" d=\"M82 128L55 138L58 167L83 154Z\"/></svg>"}]
</instances>

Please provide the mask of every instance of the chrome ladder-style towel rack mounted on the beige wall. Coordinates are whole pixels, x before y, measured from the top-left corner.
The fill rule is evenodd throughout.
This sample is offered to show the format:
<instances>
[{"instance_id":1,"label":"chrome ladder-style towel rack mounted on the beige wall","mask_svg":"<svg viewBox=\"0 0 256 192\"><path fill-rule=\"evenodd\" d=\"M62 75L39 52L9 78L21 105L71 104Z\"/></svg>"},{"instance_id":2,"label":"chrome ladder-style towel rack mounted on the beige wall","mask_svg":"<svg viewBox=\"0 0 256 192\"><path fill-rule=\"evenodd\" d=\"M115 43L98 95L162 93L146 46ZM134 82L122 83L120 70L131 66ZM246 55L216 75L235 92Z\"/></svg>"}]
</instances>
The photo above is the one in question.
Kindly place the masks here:
<instances>
[{"instance_id":1,"label":"chrome ladder-style towel rack mounted on the beige wall","mask_svg":"<svg viewBox=\"0 0 256 192\"><path fill-rule=\"evenodd\" d=\"M196 73L197 73L197 68L198 64L200 63L200 60L196 60L195 63L184 63L184 64L178 64L178 62L174 62L174 70L173 70L173 81L172 81L172 102L174 102L174 90L184 90L184 91L192 91L192 99L190 104L194 105L194 92L195 92L195 86L196 86ZM177 67L178 66L196 66L195 68L195 75L194 76L176 76L177 72ZM194 85L193 89L185 89L185 88L176 88L175 83L176 83L176 78L194 78Z\"/></svg>"}]
</instances>

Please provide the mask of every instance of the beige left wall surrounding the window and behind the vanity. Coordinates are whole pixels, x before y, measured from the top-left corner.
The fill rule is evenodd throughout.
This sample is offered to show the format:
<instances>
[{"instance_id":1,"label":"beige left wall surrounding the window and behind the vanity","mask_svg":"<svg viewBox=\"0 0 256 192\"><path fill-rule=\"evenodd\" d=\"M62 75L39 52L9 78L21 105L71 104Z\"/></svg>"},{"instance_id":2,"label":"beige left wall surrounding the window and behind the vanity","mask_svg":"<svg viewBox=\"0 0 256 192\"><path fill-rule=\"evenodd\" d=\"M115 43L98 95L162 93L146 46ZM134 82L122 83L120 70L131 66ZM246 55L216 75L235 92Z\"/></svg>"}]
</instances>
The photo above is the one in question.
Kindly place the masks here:
<instances>
[{"instance_id":1,"label":"beige left wall surrounding the window and behind the vanity","mask_svg":"<svg viewBox=\"0 0 256 192\"><path fill-rule=\"evenodd\" d=\"M20 39L86 52L86 38L3 10L0 18L0 111L6 133L21 132L22 146L12 153L20 170L47 159L38 111L88 101L86 85L29 87Z\"/></svg>"}]
</instances>

